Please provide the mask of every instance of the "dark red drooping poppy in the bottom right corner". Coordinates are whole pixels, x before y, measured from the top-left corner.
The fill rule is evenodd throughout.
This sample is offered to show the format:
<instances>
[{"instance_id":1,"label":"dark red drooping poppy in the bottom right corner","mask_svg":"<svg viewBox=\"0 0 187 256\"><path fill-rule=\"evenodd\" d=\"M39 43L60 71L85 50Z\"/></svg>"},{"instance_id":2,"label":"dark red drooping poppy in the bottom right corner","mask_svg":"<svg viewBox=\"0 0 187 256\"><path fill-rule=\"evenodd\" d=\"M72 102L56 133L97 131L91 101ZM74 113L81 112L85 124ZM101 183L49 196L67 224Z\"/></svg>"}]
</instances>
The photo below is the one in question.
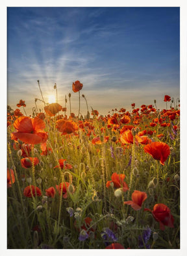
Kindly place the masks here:
<instances>
[{"instance_id":1,"label":"dark red drooping poppy in the bottom right corner","mask_svg":"<svg viewBox=\"0 0 187 256\"><path fill-rule=\"evenodd\" d=\"M153 214L156 222L159 222L161 230L165 229L165 225L168 227L174 227L174 218L171 215L171 210L166 205L164 205L164 203L156 204L153 207L153 211L147 208L145 208L144 211L149 211Z\"/></svg>"}]
</instances>

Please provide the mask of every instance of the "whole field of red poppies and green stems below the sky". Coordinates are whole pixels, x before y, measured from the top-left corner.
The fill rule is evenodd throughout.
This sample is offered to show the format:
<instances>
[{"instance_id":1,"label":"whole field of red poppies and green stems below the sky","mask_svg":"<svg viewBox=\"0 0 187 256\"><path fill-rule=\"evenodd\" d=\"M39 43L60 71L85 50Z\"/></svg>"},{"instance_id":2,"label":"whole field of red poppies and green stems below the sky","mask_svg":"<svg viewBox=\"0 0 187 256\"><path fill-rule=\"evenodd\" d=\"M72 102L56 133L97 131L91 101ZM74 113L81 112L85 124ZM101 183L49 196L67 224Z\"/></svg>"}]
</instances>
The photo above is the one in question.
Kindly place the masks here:
<instances>
[{"instance_id":1,"label":"whole field of red poppies and green stems below the sky","mask_svg":"<svg viewBox=\"0 0 187 256\"><path fill-rule=\"evenodd\" d=\"M103 116L82 88L63 104L56 84L55 103L40 88L31 116L8 106L7 248L179 249L179 99Z\"/></svg>"}]
</instances>

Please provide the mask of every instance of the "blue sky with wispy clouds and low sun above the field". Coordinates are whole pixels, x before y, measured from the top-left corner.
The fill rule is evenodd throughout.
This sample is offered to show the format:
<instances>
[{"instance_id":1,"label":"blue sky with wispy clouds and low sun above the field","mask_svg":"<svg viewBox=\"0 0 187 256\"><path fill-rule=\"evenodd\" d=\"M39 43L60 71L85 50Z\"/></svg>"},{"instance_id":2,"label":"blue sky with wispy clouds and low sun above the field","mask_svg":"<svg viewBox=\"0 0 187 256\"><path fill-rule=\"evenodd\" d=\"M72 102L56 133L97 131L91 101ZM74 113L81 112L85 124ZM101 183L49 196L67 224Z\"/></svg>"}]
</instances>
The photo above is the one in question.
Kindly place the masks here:
<instances>
[{"instance_id":1,"label":"blue sky with wispy clouds and low sun above the field","mask_svg":"<svg viewBox=\"0 0 187 256\"><path fill-rule=\"evenodd\" d=\"M58 102L71 92L77 112L81 94L99 114L152 104L166 107L180 94L180 9L173 7L41 7L7 9L8 100L24 99L31 114L40 97L58 88ZM42 109L41 105L41 109ZM81 99L81 112L86 104Z\"/></svg>"}]
</instances>

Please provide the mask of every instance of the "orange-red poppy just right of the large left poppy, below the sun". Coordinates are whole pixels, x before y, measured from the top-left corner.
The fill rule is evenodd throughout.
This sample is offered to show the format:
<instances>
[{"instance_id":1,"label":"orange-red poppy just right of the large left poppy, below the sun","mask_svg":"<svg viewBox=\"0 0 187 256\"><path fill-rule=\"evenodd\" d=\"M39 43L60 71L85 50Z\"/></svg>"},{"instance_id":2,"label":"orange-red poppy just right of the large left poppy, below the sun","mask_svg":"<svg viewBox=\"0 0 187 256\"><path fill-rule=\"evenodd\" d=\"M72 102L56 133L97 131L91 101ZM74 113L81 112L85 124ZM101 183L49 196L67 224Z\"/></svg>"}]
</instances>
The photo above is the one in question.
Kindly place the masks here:
<instances>
[{"instance_id":1,"label":"orange-red poppy just right of the large left poppy, below the sun","mask_svg":"<svg viewBox=\"0 0 187 256\"><path fill-rule=\"evenodd\" d=\"M56 121L56 129L62 133L62 135L71 134L78 135L78 125L75 122L60 119Z\"/></svg>"}]
</instances>

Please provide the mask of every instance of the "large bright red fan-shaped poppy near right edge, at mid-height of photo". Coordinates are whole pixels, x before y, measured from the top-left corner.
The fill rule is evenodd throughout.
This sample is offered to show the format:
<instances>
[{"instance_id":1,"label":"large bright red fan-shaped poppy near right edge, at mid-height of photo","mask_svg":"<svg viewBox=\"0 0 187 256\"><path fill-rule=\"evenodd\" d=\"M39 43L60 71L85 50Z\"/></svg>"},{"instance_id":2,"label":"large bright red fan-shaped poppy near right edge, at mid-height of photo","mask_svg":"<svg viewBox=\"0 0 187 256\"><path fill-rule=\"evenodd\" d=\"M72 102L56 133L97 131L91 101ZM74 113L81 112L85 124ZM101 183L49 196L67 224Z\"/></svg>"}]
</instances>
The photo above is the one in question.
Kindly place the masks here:
<instances>
[{"instance_id":1,"label":"large bright red fan-shaped poppy near right edge, at mid-height of photo","mask_svg":"<svg viewBox=\"0 0 187 256\"><path fill-rule=\"evenodd\" d=\"M144 148L146 153L149 153L154 159L160 160L160 164L164 165L164 162L168 159L170 149L168 144L164 142L152 142L147 144Z\"/></svg>"}]
</instances>

